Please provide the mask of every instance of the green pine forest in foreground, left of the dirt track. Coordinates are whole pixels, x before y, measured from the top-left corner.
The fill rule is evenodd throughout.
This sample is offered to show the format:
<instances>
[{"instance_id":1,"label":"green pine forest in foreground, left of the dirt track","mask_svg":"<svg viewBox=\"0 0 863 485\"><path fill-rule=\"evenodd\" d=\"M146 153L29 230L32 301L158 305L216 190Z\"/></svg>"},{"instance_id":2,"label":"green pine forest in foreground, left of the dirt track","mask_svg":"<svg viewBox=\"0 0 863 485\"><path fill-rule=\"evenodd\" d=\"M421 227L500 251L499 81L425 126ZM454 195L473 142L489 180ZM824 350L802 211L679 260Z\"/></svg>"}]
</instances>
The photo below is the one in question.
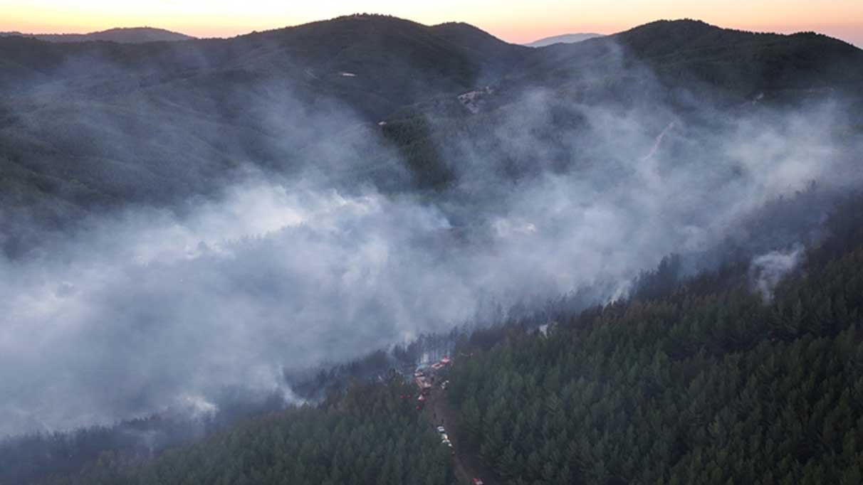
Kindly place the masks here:
<instances>
[{"instance_id":1,"label":"green pine forest in foreground, left of the dirt track","mask_svg":"<svg viewBox=\"0 0 863 485\"><path fill-rule=\"evenodd\" d=\"M355 386L320 407L297 407L129 466L105 453L51 485L291 484L453 482L450 454L414 407L407 384Z\"/></svg>"}]
</instances>

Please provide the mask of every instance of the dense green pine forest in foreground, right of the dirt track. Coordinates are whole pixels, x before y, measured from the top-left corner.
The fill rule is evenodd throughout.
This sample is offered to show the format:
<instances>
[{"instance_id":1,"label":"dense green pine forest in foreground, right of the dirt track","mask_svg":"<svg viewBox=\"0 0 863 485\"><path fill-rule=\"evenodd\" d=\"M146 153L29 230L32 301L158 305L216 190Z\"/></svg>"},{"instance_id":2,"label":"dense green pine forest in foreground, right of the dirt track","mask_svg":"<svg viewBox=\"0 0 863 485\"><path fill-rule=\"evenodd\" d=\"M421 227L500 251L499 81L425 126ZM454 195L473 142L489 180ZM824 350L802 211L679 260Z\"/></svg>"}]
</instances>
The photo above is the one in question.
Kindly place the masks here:
<instances>
[{"instance_id":1,"label":"dense green pine forest in foreground, right of the dirt track","mask_svg":"<svg viewBox=\"0 0 863 485\"><path fill-rule=\"evenodd\" d=\"M602 308L475 353L450 399L507 483L859 481L860 275L863 247L771 304L683 285Z\"/></svg>"}]
</instances>

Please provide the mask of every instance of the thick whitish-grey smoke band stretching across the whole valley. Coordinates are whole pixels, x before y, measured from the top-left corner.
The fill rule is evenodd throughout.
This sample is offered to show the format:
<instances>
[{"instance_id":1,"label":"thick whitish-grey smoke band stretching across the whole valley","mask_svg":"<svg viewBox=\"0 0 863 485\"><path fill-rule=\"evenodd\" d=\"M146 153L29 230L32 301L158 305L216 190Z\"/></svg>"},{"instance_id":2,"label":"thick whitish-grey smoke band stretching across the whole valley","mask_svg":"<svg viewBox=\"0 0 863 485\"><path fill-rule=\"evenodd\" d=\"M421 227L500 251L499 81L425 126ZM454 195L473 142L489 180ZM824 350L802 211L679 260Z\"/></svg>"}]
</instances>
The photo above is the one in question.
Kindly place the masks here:
<instances>
[{"instance_id":1,"label":"thick whitish-grey smoke band stretching across the whole valley","mask_svg":"<svg viewBox=\"0 0 863 485\"><path fill-rule=\"evenodd\" d=\"M444 140L457 183L437 197L334 182L357 152L403 165L368 127L339 132L350 114L259 106L305 145L302 170L249 169L182 211L129 208L0 260L0 434L210 413L224 388L292 401L284 368L447 331L490 301L599 284L626 295L670 252L746 240L765 202L860 182L830 103L705 108L698 122L657 104L562 107L546 90L513 104L518 115L501 109L482 137ZM788 258L753 264L770 276Z\"/></svg>"}]
</instances>

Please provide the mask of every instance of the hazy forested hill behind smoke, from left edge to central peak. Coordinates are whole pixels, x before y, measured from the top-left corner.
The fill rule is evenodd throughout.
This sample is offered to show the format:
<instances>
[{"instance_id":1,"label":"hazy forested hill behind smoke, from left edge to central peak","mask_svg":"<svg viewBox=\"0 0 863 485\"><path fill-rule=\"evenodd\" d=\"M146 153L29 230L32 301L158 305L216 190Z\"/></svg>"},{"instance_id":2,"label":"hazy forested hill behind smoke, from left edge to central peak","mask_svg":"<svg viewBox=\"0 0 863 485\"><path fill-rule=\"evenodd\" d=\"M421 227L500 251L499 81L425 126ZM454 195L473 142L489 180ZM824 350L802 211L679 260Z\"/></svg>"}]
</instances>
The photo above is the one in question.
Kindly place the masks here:
<instances>
[{"instance_id":1,"label":"hazy forested hill behind smoke, from left edge to central peak","mask_svg":"<svg viewBox=\"0 0 863 485\"><path fill-rule=\"evenodd\" d=\"M387 16L226 40L5 37L3 202L56 226L96 207L164 205L206 193L237 165L287 172L313 141L283 136L288 120L306 122L303 111L337 136L425 98L469 90L507 72L524 49L466 26L431 28ZM364 164L380 165L374 158ZM178 174L177 166L186 170ZM356 177L353 168L342 170Z\"/></svg>"}]
</instances>

